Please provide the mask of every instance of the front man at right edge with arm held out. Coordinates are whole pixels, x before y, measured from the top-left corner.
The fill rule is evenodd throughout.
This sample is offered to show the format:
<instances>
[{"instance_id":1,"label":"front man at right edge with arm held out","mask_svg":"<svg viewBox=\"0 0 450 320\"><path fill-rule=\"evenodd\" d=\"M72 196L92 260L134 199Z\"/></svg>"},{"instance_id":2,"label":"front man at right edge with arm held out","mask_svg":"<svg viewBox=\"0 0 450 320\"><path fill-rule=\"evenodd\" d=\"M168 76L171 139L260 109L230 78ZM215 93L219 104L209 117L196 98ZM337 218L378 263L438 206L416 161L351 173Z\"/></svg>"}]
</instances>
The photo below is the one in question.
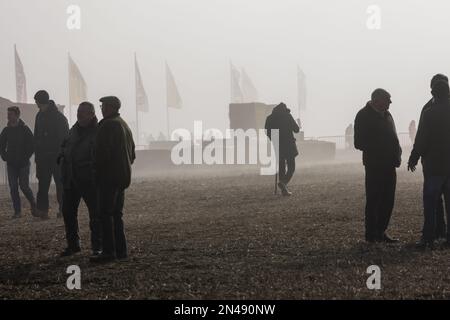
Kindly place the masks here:
<instances>
[{"instance_id":1,"label":"front man at right edge with arm held out","mask_svg":"<svg viewBox=\"0 0 450 320\"><path fill-rule=\"evenodd\" d=\"M424 171L424 225L419 247L433 247L437 238L438 200L444 194L450 206L450 89L448 82L438 80L432 88L433 102L424 111L408 162L408 170L415 171L419 157ZM449 218L447 210L447 221ZM447 243L450 243L447 224Z\"/></svg>"}]
</instances>

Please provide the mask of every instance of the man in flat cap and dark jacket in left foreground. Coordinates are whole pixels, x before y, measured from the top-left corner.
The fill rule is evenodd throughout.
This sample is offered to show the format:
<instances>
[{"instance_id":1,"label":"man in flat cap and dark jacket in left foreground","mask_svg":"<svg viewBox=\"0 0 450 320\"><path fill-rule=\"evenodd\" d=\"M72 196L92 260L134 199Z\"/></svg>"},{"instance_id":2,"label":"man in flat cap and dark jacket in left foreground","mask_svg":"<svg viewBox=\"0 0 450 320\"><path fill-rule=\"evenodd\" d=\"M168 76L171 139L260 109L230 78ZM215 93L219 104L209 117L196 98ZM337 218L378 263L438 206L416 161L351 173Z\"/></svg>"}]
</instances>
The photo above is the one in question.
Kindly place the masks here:
<instances>
[{"instance_id":1,"label":"man in flat cap and dark jacket in left foreground","mask_svg":"<svg viewBox=\"0 0 450 320\"><path fill-rule=\"evenodd\" d=\"M111 262L128 257L123 226L125 190L131 184L131 165L136 159L133 135L120 117L117 97L104 97L103 120L99 124L95 147L96 182L99 192L103 252L91 262Z\"/></svg>"}]
</instances>

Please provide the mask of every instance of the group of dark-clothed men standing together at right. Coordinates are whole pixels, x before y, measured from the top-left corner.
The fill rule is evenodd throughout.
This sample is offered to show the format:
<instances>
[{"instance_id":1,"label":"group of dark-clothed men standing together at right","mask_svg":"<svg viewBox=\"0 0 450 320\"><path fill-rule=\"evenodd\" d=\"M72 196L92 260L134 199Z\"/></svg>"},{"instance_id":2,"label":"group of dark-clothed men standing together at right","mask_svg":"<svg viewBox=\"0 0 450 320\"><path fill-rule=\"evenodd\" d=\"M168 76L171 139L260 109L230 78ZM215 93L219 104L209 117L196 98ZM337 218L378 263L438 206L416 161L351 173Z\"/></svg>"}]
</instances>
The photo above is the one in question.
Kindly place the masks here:
<instances>
[{"instance_id":1,"label":"group of dark-clothed men standing together at right","mask_svg":"<svg viewBox=\"0 0 450 320\"><path fill-rule=\"evenodd\" d=\"M424 224L419 248L433 248L445 239L450 245L450 89L448 78L437 74L431 80L432 99L424 106L408 170L422 159ZM355 148L363 152L366 172L365 238L368 242L397 242L386 234L394 208L396 168L401 165L395 123L388 111L391 95L376 89L355 119ZM444 196L447 226L444 218Z\"/></svg>"}]
</instances>

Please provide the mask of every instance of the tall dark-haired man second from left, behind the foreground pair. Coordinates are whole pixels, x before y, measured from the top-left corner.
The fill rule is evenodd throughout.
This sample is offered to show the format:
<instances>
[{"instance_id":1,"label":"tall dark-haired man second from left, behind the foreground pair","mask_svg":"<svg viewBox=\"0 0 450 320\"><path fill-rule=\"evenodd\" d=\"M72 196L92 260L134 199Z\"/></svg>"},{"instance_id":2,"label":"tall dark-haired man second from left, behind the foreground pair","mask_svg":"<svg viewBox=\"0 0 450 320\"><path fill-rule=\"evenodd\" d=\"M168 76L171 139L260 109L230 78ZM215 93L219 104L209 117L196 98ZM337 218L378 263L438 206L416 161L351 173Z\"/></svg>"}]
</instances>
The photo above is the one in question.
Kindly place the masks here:
<instances>
[{"instance_id":1,"label":"tall dark-haired man second from left, behind the foreground pair","mask_svg":"<svg viewBox=\"0 0 450 320\"><path fill-rule=\"evenodd\" d=\"M69 133L69 124L66 117L59 112L55 102L50 100L47 91L38 91L34 100L39 108L34 125L36 176L39 180L37 210L43 219L48 219L48 191L53 176L59 205L57 217L61 218L63 186L60 167L56 160L61 144Z\"/></svg>"}]
</instances>

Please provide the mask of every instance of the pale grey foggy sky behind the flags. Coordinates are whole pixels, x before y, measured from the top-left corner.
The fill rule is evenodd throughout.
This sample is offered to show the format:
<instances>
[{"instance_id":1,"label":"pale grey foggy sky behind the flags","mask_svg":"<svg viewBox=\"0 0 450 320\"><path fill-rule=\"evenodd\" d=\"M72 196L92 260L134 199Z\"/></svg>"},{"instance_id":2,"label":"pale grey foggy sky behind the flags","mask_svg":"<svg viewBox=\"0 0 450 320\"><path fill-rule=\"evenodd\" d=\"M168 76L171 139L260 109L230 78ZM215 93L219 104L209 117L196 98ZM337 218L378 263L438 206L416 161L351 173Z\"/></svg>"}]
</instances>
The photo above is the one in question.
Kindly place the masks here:
<instances>
[{"instance_id":1,"label":"pale grey foggy sky behind the flags","mask_svg":"<svg viewBox=\"0 0 450 320\"><path fill-rule=\"evenodd\" d=\"M66 10L81 8L81 29ZM370 5L380 29L367 26ZM450 73L448 0L0 0L0 96L15 99L14 44L31 100L47 89L68 104L67 54L88 98L117 95L135 119L134 53L150 112L145 133L166 132L165 63L183 108L171 127L228 127L230 61L244 67L264 103L286 102L298 115L297 66L307 76L306 136L341 135L377 87L392 93L398 131L429 99L433 74ZM99 111L99 110L97 110Z\"/></svg>"}]
</instances>

